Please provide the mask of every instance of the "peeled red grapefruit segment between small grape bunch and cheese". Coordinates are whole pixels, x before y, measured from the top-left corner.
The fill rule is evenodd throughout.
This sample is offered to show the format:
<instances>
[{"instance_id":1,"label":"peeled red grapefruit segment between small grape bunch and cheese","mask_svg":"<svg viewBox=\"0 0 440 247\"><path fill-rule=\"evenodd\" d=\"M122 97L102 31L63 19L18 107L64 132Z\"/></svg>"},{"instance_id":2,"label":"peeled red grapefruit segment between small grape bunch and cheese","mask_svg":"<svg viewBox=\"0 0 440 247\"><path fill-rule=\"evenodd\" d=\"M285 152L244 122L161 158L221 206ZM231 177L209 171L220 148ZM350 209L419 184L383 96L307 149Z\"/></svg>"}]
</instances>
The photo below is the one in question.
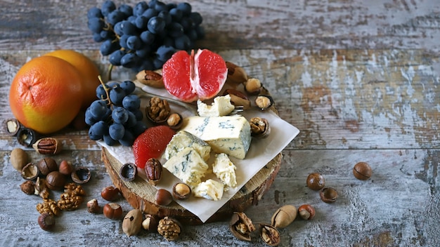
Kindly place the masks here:
<instances>
[{"instance_id":1,"label":"peeled red grapefruit segment between small grape bunch and cheese","mask_svg":"<svg viewBox=\"0 0 440 247\"><path fill-rule=\"evenodd\" d=\"M147 128L133 143L134 163L143 169L150 158L159 159L176 132L168 126Z\"/></svg>"}]
</instances>

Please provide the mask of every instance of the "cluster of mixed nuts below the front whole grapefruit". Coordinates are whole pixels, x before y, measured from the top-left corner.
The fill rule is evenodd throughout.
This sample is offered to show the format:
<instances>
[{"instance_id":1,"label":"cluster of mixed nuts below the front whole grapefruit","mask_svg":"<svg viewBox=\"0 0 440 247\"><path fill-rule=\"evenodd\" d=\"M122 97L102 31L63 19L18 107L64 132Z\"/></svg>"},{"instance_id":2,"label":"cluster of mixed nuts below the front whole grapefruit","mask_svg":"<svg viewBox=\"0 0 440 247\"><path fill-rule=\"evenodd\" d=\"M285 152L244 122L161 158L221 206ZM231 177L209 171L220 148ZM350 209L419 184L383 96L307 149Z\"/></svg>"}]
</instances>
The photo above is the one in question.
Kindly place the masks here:
<instances>
[{"instance_id":1,"label":"cluster of mixed nuts below the front whole grapefruit","mask_svg":"<svg viewBox=\"0 0 440 247\"><path fill-rule=\"evenodd\" d=\"M44 143L48 145L43 145ZM55 154L42 150L56 147L59 149L58 140L55 138L44 138L35 142L39 154ZM55 149L54 149L55 150ZM22 182L20 189L25 194L41 196L43 201L38 203L36 208L40 213L38 223L41 229L49 231L55 225L55 216L60 211L72 211L81 205L86 193L81 184L88 182L90 171L85 167L74 168L70 161L60 161L59 166L55 159L45 156L38 162L29 160L27 153L20 148L11 151L11 165L20 171ZM70 182L72 180L72 182ZM51 191L62 191L60 198L56 201L51 199Z\"/></svg>"}]
</instances>

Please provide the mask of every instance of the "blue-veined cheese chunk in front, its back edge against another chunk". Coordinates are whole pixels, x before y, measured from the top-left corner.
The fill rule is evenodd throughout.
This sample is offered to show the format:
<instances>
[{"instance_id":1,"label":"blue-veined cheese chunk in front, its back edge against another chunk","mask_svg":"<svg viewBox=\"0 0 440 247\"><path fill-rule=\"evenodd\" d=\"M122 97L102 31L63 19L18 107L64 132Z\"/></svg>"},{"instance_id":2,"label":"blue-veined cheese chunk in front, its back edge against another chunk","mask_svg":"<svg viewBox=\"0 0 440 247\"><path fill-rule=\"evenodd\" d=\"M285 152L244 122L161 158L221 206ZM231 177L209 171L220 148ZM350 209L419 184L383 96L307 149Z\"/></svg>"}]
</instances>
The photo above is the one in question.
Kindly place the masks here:
<instances>
[{"instance_id":1,"label":"blue-veined cheese chunk in front, its back edge against another chunk","mask_svg":"<svg viewBox=\"0 0 440 247\"><path fill-rule=\"evenodd\" d=\"M165 162L163 167L190 187L200 184L208 169L207 163L192 147L182 149Z\"/></svg>"}]
</instances>

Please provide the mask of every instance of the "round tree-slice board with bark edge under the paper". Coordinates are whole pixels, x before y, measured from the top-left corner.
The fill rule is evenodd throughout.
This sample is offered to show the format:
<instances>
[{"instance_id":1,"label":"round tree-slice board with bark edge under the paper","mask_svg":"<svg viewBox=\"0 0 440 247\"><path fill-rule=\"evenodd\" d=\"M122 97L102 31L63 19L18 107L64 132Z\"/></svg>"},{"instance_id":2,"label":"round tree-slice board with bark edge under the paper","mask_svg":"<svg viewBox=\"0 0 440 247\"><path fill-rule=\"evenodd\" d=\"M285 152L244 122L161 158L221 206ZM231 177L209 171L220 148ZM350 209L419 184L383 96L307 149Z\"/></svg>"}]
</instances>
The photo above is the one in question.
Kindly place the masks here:
<instances>
[{"instance_id":1,"label":"round tree-slice board with bark edge under the paper","mask_svg":"<svg viewBox=\"0 0 440 247\"><path fill-rule=\"evenodd\" d=\"M105 147L103 147L102 158L108 174L115 185L119 188L122 196L133 208L141 209L144 213L157 215L159 218L172 216L184 225L201 225L203 222L193 213L186 210L176 202L169 206L159 206L155 203L156 188L142 178L127 182L119 177L119 169L122 166ZM224 206L222 206L206 222L229 220L233 212L245 211L246 208L257 205L261 197L271 187L278 171L280 170L283 155L277 154L269 163L264 166L254 177L249 180Z\"/></svg>"}]
</instances>

